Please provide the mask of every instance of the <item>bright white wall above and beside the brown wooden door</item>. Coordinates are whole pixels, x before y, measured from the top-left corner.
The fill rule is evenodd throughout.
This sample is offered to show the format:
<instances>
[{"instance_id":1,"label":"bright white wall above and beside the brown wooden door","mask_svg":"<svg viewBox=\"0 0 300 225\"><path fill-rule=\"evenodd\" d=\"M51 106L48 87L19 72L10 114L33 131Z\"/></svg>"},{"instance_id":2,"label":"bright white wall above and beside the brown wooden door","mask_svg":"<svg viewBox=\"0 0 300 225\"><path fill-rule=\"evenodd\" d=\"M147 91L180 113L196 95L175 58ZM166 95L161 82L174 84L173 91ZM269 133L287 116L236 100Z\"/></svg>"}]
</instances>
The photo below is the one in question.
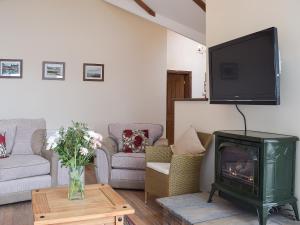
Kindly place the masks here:
<instances>
[{"instance_id":1,"label":"bright white wall above and beside the brown wooden door","mask_svg":"<svg viewBox=\"0 0 300 225\"><path fill-rule=\"evenodd\" d=\"M198 51L202 48L202 54ZM206 72L205 46L173 31L167 31L168 70L192 71L192 97L203 97Z\"/></svg>"}]
</instances>

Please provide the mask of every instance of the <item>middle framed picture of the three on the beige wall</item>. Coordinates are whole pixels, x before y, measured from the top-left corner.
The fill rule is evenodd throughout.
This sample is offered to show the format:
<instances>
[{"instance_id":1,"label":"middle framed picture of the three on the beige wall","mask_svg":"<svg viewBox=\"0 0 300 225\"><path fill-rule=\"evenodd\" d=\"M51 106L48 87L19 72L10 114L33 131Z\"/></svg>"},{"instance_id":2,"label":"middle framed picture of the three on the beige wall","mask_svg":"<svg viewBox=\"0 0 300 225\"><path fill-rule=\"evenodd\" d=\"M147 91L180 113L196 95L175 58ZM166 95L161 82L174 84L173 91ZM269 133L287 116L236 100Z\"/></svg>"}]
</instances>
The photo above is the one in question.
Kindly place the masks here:
<instances>
[{"instance_id":1,"label":"middle framed picture of the three on the beige wall","mask_svg":"<svg viewBox=\"0 0 300 225\"><path fill-rule=\"evenodd\" d=\"M64 80L64 62L43 62L43 80Z\"/></svg>"}]
</instances>

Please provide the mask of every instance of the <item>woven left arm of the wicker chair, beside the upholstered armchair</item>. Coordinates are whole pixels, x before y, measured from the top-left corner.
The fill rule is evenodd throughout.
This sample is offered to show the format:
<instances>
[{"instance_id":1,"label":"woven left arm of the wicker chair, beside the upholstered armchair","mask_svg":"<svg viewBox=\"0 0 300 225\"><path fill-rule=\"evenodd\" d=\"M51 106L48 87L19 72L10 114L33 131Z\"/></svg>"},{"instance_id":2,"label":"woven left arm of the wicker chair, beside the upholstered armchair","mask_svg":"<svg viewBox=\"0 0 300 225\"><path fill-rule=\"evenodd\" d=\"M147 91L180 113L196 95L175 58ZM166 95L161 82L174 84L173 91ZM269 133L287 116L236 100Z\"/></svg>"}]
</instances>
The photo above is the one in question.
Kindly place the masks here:
<instances>
[{"instance_id":1,"label":"woven left arm of the wicker chair, beside the upholstered armchair","mask_svg":"<svg viewBox=\"0 0 300 225\"><path fill-rule=\"evenodd\" d=\"M146 147L146 162L171 162L171 148L168 146L148 146Z\"/></svg>"}]
</instances>

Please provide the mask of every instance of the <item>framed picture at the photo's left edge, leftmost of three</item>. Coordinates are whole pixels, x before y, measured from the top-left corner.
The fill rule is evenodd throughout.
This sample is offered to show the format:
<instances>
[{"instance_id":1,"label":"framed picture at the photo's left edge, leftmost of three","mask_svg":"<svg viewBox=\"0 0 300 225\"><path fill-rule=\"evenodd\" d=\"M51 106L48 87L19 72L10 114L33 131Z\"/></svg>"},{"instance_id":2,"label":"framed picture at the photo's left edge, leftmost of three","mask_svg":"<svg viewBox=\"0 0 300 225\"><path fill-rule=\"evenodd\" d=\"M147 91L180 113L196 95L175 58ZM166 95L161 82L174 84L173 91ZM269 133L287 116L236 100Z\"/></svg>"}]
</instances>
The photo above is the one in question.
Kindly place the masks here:
<instances>
[{"instance_id":1,"label":"framed picture at the photo's left edge, leftmost of three","mask_svg":"<svg viewBox=\"0 0 300 225\"><path fill-rule=\"evenodd\" d=\"M22 78L22 59L0 59L0 78Z\"/></svg>"}]
</instances>

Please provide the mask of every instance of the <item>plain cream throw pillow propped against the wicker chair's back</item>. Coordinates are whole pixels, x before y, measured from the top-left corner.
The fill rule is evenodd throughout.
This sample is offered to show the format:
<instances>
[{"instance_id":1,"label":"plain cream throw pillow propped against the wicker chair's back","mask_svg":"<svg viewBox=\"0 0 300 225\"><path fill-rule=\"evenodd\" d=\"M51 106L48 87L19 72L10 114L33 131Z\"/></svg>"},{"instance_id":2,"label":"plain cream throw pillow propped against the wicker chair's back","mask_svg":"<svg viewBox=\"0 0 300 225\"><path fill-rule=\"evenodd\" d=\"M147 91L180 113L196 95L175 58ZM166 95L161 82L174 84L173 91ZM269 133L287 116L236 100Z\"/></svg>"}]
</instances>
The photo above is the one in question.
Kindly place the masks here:
<instances>
[{"instance_id":1,"label":"plain cream throw pillow propped against the wicker chair's back","mask_svg":"<svg viewBox=\"0 0 300 225\"><path fill-rule=\"evenodd\" d=\"M171 146L172 152L176 155L182 154L200 154L206 151L203 147L197 131L190 127L179 139L175 145Z\"/></svg>"}]
</instances>

